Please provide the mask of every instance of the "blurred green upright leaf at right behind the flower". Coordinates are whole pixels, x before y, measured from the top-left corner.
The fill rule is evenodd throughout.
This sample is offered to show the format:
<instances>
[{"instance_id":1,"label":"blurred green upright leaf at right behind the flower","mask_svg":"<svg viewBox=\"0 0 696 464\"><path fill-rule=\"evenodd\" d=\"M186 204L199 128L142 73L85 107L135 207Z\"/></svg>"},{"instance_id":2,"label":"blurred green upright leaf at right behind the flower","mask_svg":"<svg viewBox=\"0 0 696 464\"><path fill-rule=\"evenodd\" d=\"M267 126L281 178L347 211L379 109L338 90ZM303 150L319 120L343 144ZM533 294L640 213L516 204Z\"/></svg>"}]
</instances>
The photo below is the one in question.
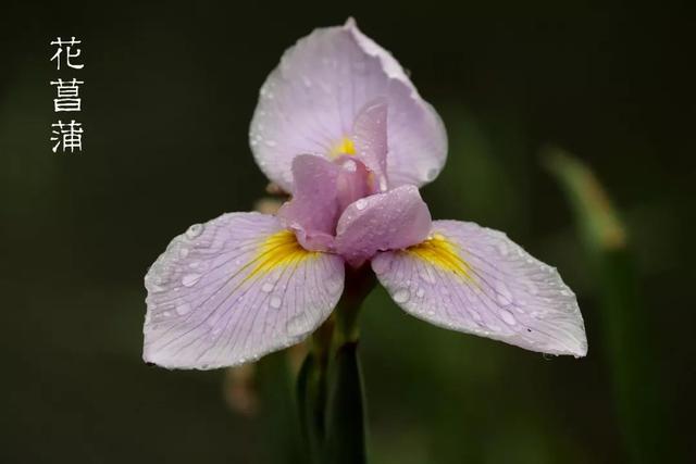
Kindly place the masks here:
<instances>
[{"instance_id":1,"label":"blurred green upright leaf at right behind the flower","mask_svg":"<svg viewBox=\"0 0 696 464\"><path fill-rule=\"evenodd\" d=\"M651 343L649 312L629 246L626 229L602 186L581 161L548 149L546 165L566 190L599 287L599 328L611 371L614 402L625 454L633 463L681 462L671 442L669 401ZM592 350L592 347L591 347Z\"/></svg>"}]
</instances>

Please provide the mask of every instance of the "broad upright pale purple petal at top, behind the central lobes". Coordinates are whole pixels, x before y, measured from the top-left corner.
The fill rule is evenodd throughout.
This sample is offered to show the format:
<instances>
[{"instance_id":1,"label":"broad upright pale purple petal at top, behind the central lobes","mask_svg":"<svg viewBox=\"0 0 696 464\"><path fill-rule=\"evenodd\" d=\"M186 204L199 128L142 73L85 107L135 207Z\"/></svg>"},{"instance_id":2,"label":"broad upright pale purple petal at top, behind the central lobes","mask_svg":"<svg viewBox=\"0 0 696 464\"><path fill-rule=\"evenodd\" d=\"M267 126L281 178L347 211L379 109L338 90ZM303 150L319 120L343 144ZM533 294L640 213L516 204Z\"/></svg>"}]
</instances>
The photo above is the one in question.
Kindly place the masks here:
<instances>
[{"instance_id":1,"label":"broad upright pale purple petal at top, behind the central lobes","mask_svg":"<svg viewBox=\"0 0 696 464\"><path fill-rule=\"evenodd\" d=\"M261 170L288 191L299 153L328 155L351 136L363 105L389 108L388 176L393 186L422 185L445 163L447 136L398 62L355 22L315 29L289 48L261 87L250 143Z\"/></svg>"}]
</instances>

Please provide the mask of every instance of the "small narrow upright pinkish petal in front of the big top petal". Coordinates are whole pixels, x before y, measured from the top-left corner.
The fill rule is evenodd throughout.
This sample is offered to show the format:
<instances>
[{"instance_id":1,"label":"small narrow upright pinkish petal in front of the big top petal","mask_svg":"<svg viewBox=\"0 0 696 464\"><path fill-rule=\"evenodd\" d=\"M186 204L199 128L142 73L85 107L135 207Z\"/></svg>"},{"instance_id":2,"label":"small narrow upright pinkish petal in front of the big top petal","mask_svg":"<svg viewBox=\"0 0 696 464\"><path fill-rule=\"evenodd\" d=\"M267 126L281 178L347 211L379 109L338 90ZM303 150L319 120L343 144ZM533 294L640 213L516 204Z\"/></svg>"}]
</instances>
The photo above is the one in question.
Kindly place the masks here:
<instances>
[{"instance_id":1,"label":"small narrow upright pinkish petal in front of the big top petal","mask_svg":"<svg viewBox=\"0 0 696 464\"><path fill-rule=\"evenodd\" d=\"M356 116L352 139L357 155L375 176L380 191L387 183L387 101L378 98L365 104Z\"/></svg>"}]
</instances>

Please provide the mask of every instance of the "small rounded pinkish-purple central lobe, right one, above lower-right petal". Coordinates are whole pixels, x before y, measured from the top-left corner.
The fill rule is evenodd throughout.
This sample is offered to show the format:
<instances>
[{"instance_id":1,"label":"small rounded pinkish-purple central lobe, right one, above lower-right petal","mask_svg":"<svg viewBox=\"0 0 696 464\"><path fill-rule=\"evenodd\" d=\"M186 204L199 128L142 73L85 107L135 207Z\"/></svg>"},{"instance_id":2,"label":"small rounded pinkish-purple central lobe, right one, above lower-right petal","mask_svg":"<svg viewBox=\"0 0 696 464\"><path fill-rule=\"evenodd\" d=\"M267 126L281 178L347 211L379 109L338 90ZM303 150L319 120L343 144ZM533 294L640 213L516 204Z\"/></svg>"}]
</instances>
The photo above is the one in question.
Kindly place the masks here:
<instances>
[{"instance_id":1,"label":"small rounded pinkish-purple central lobe, right one, above lower-right petal","mask_svg":"<svg viewBox=\"0 0 696 464\"><path fill-rule=\"evenodd\" d=\"M418 188L402 186L350 204L336 226L336 251L353 266L377 251L419 243L431 230L431 213Z\"/></svg>"}]
</instances>

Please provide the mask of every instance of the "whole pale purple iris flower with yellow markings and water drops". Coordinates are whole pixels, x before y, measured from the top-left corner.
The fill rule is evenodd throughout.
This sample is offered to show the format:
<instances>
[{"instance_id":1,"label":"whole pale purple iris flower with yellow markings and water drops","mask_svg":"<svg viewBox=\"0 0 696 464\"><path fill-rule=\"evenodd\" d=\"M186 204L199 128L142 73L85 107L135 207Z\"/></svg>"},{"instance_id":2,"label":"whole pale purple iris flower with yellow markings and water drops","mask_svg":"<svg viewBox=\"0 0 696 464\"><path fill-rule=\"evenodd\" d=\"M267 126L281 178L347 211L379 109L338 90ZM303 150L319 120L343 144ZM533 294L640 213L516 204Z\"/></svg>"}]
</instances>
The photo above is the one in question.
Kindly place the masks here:
<instances>
[{"instance_id":1,"label":"whole pale purple iris flower with yellow markings and water drops","mask_svg":"<svg viewBox=\"0 0 696 464\"><path fill-rule=\"evenodd\" d=\"M505 234L432 221L419 187L447 135L389 52L352 20L283 55L250 145L291 193L276 215L223 214L175 237L145 277L144 359L216 368L300 342L369 269L403 311L527 350L583 356L582 315L556 268Z\"/></svg>"}]
</instances>

